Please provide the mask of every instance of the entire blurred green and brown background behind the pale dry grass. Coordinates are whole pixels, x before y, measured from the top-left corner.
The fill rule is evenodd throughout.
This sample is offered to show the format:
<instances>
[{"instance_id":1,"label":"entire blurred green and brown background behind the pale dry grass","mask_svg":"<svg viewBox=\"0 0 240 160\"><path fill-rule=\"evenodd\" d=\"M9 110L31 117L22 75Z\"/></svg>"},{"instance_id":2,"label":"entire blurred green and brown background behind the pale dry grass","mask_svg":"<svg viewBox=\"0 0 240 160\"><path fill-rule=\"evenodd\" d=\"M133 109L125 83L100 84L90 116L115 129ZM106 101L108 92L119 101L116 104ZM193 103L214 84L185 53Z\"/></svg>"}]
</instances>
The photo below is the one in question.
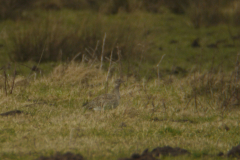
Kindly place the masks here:
<instances>
[{"instance_id":1,"label":"entire blurred green and brown background behind the pale dry grass","mask_svg":"<svg viewBox=\"0 0 240 160\"><path fill-rule=\"evenodd\" d=\"M80 52L76 60L93 60L93 52L100 60L106 33L104 56L113 50L116 60L120 50L125 70L149 72L164 54L164 72L196 64L229 69L239 17L238 0L0 0L0 63L41 55L41 62L68 61Z\"/></svg>"}]
</instances>

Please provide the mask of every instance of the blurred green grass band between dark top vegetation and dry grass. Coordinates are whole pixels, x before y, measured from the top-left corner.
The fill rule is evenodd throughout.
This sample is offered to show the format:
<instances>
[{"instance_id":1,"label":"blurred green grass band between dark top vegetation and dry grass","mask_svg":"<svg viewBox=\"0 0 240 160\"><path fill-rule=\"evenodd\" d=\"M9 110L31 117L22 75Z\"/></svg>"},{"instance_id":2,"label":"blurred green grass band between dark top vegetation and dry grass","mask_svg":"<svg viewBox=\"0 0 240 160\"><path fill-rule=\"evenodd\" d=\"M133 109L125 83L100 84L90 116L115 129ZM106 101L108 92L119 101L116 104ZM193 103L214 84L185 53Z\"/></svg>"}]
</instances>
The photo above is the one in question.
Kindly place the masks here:
<instances>
[{"instance_id":1,"label":"blurred green grass band between dark top vegetation and dry grass","mask_svg":"<svg viewBox=\"0 0 240 160\"><path fill-rule=\"evenodd\" d=\"M77 30L78 34L84 33L85 36L90 37L91 35L88 35L88 31L92 30L93 35L96 36L96 42L92 41L89 43L84 42L84 39L82 38L68 38L71 43L67 43L67 45L71 44L72 46L70 45L69 47L73 49L67 49L67 45L62 46L63 51L64 47L66 50L66 52L63 53L65 55L64 59L62 59L63 61L65 61L67 57L71 59L74 55L76 55L77 52L85 53L84 50L86 47L95 48L97 40L100 40L100 47L98 48L98 50L99 53L101 53L101 40L104 36L104 33L106 32L106 54L109 55L112 47L114 47L114 45L116 46L116 44L112 42L118 39L120 49L122 50L122 54L124 55L125 59L127 58L131 60L130 72L139 70L138 74L140 77L156 76L156 74L152 73L151 70L153 68L155 69L155 66L161 59L161 56L164 54L166 54L166 56L164 57L160 65L160 70L162 71L163 75L169 74L173 66L182 67L187 71L190 71L192 68L209 70L212 67L221 68L225 71L230 71L235 65L237 53L240 46L239 40L233 41L231 39L231 35L235 36L239 34L238 27L228 27L228 25L221 24L208 28L202 27L199 29L195 29L192 26L188 17L186 17L185 15L174 15L167 11L165 11L164 14L133 12L131 14L120 13L117 15L101 15L95 12L71 10L49 12L35 11L33 13L37 15L35 21L43 22L44 19L45 21L47 19L51 22L50 26L54 26L60 21L62 24L62 28L71 28L73 30ZM16 45L15 47L13 47L11 39L8 39L7 36L11 37L13 36L13 33L18 33L22 30L28 32L29 29L31 30L31 28L36 28L38 26L32 24L28 20L20 21L20 25L11 21L3 21L1 23L2 25L0 25L0 30L5 36L0 38L0 42L4 44L4 46L0 48L2 56L0 57L0 63L4 64L6 62L8 54L16 54L16 51L13 52L12 49L14 49L15 47L20 47ZM96 28L96 25L98 26L98 28ZM24 26L25 29L23 29ZM88 31L86 30L87 28ZM14 30L15 32L12 32L12 30ZM60 37L64 37L64 35L61 35L59 32L60 28L56 28L54 34L57 34ZM119 34L116 34L116 32L124 36L121 37ZM65 33L63 32L62 34ZM127 37L126 35L130 36ZM196 38L200 38L201 47L199 48L191 47L191 43ZM28 39L29 45L33 45L31 44L32 40L30 36L26 36L25 39L22 39L23 44ZM56 40L52 42L56 43L55 46L52 46L53 49L54 47L59 45L59 42L57 42ZM177 41L177 43L171 44L170 42L172 40ZM223 43L220 43L218 48L207 47L207 45L211 43L216 43L219 40L225 41ZM76 41L79 41L79 43L76 43ZM129 45L125 45L124 42L125 44ZM234 44L235 46L225 47L225 45L229 44ZM77 49L77 46L79 46L79 49ZM27 48L29 47L24 47L26 48L26 50L23 51L29 52L27 50ZM35 56L33 57L33 60L35 60L36 63L40 59L42 51L43 47L39 48L37 54L34 53ZM28 54L31 55L31 53L33 52L29 52ZM21 54L25 53L22 52ZM44 53L44 56L46 56L46 54L50 53L46 52ZM59 54L59 52L56 52L54 54ZM114 52L114 55L114 59L116 60L116 51ZM136 62L134 62L134 59L136 60ZM129 68L128 64L123 66L124 71L127 72ZM49 65L49 67L46 68L48 68L47 70L51 70L52 67L50 67Z\"/></svg>"}]
</instances>

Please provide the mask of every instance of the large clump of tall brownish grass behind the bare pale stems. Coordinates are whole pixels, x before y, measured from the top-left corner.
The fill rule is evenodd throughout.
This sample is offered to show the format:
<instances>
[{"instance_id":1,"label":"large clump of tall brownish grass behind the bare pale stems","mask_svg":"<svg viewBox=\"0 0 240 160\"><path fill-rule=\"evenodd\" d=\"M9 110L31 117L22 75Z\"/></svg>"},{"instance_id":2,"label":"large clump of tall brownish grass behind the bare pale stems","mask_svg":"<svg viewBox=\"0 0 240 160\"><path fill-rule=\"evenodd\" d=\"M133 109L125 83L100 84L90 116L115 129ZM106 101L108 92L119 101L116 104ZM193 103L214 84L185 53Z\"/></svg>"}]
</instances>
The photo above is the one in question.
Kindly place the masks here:
<instances>
[{"instance_id":1,"label":"large clump of tall brownish grass behind the bare pale stems","mask_svg":"<svg viewBox=\"0 0 240 160\"><path fill-rule=\"evenodd\" d=\"M68 17L65 20L63 17L48 17L47 20L18 24L14 32L8 32L6 39L10 59L37 62L43 53L42 61L58 61L71 59L79 52L91 58L89 51L94 50L98 41L102 43L104 33L107 33L104 56L110 55L116 46L119 46L124 57L138 52L138 37L143 35L143 31L135 28L137 22L106 20L104 15L98 14L86 18L86 14L81 17L74 15L72 20ZM100 58L101 48L98 47L95 52Z\"/></svg>"}]
</instances>

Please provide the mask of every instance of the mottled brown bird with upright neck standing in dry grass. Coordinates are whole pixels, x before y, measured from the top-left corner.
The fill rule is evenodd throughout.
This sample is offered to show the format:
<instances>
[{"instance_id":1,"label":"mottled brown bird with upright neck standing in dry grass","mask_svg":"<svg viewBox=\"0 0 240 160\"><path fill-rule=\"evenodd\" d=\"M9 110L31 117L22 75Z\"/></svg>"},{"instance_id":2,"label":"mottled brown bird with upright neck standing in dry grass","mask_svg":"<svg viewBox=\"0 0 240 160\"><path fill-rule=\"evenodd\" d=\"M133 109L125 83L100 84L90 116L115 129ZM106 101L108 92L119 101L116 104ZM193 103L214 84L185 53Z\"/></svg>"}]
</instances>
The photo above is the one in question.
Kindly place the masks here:
<instances>
[{"instance_id":1,"label":"mottled brown bird with upright neck standing in dry grass","mask_svg":"<svg viewBox=\"0 0 240 160\"><path fill-rule=\"evenodd\" d=\"M95 111L116 108L120 102L119 88L123 82L123 80L117 79L115 81L115 87L111 93L102 94L83 106L86 109L91 109Z\"/></svg>"}]
</instances>

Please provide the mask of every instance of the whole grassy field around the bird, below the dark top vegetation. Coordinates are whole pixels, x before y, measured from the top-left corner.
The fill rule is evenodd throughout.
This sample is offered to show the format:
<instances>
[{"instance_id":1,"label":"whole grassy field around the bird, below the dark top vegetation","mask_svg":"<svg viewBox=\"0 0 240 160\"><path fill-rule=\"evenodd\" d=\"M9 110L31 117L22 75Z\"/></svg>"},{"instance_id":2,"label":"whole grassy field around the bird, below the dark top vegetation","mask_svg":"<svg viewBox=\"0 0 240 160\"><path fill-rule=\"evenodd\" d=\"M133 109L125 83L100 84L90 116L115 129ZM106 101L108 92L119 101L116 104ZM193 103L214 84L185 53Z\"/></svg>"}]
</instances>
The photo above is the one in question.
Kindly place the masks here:
<instances>
[{"instance_id":1,"label":"whole grassy field around the bird, below the dark top vegetation","mask_svg":"<svg viewBox=\"0 0 240 160\"><path fill-rule=\"evenodd\" d=\"M31 21L30 13L39 23ZM71 10L30 13L23 20L0 23L0 113L23 112L0 116L0 159L30 160L68 151L90 160L118 159L166 145L187 149L191 155L161 159L225 159L216 154L240 143L238 27L196 29L186 16L167 10L117 15ZM48 37L45 42L42 32L35 32L44 26L42 19L51 22L43 33L54 33L52 41ZM79 27L76 35L85 39L74 36L69 27L74 31ZM104 33L105 56L114 51L108 89L109 62L100 70L100 62L93 63L86 51L99 40L101 55ZM89 37L91 42L85 42ZM62 46L66 38L62 59L48 61L51 49ZM193 45L194 40L199 46ZM41 43L40 48L35 43ZM68 50L72 44L74 48ZM113 49L117 45L121 61ZM86 55L85 62L82 55L71 61L78 52ZM17 61L25 53L30 58ZM31 72L42 53L41 74ZM58 56L59 50L53 55ZM163 55L158 77L156 66ZM116 109L93 112L82 107L110 91L120 75L126 82Z\"/></svg>"}]
</instances>

